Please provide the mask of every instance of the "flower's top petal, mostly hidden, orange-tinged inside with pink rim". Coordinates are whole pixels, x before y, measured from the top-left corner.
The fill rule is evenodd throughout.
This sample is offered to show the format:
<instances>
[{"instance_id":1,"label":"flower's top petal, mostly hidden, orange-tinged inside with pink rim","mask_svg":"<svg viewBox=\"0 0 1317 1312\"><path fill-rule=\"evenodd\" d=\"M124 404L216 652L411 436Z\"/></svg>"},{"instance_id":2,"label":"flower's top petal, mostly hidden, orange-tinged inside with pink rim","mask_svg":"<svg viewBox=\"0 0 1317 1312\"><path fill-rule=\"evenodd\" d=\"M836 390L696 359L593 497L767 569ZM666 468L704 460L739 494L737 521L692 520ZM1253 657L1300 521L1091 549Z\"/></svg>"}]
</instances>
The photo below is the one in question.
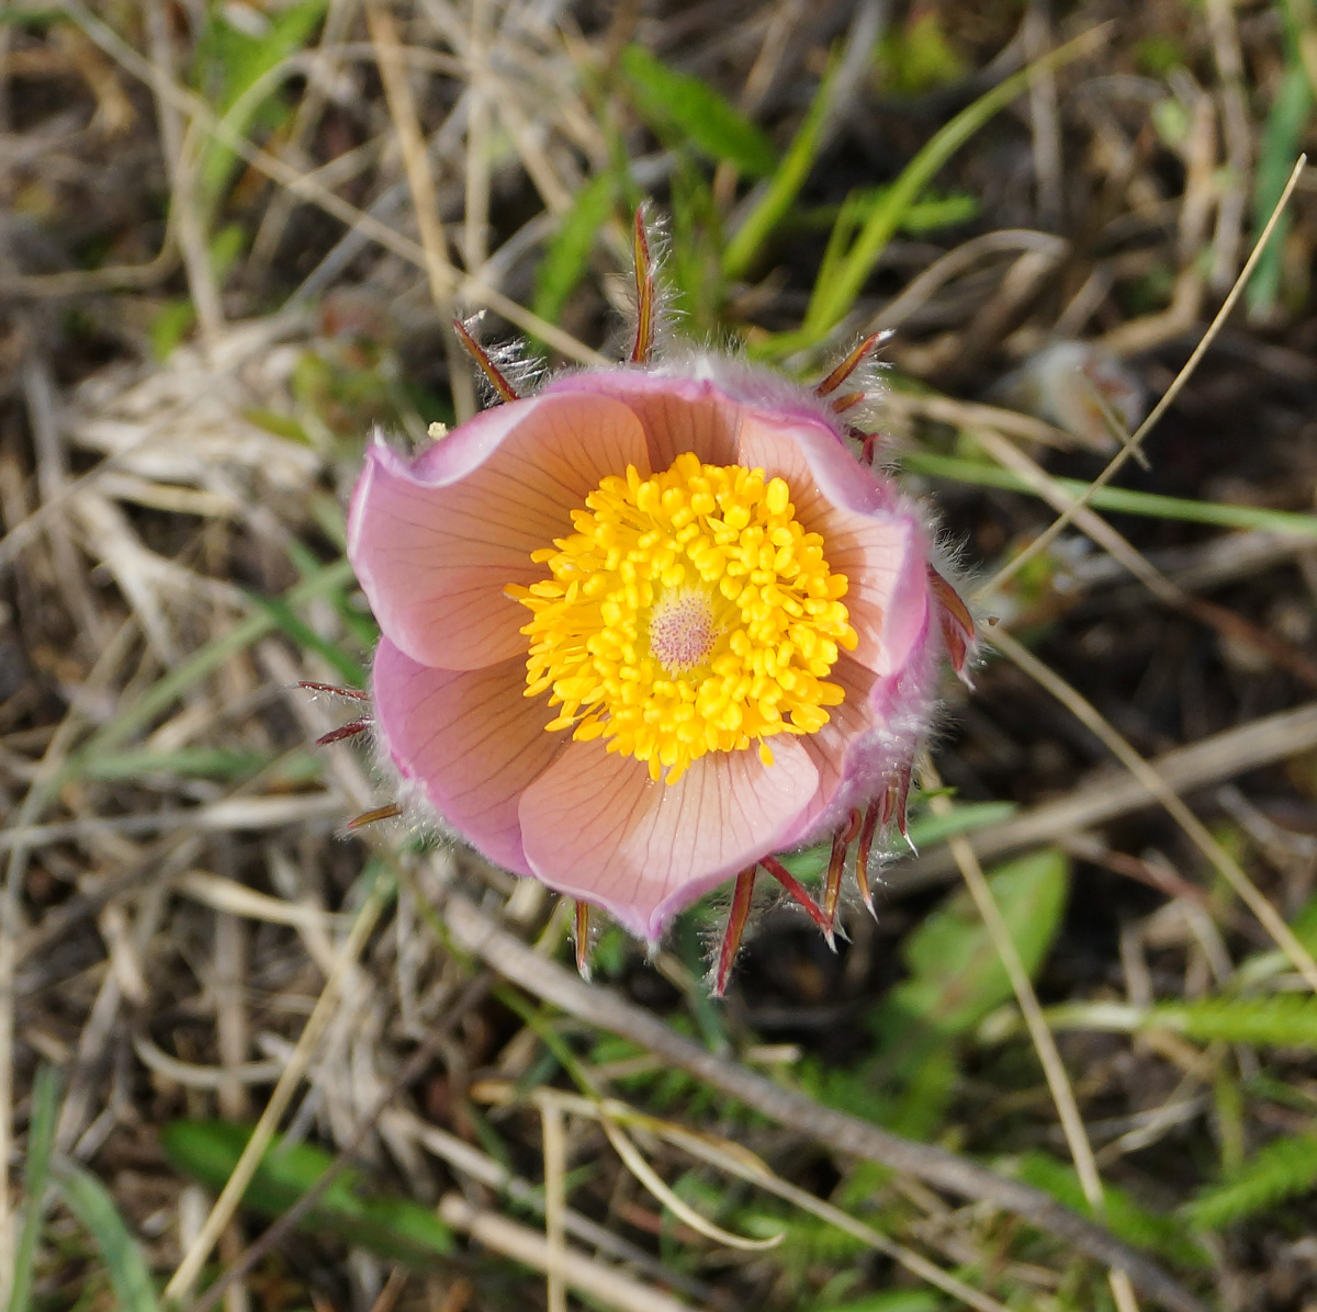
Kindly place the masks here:
<instances>
[{"instance_id":1,"label":"flower's top petal, mostly hidden, orange-tinged inside with pink rim","mask_svg":"<svg viewBox=\"0 0 1317 1312\"><path fill-rule=\"evenodd\" d=\"M741 407L712 383L694 378L665 378L631 370L572 374L551 383L541 395L595 393L612 396L635 411L649 442L649 463L668 468L684 451L705 465L731 465L736 458L736 429Z\"/></svg>"}]
</instances>

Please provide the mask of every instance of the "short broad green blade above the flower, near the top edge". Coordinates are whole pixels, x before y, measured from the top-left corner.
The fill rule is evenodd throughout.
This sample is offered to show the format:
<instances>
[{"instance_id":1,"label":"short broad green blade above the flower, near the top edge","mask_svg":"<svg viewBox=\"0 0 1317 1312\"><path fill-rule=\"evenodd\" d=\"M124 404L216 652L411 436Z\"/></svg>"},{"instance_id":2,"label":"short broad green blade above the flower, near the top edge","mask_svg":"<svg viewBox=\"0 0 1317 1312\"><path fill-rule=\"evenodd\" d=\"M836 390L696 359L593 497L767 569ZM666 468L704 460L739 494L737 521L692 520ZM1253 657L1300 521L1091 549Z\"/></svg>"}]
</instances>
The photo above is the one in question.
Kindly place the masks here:
<instances>
[{"instance_id":1,"label":"short broad green blade above the flower, near the top edge","mask_svg":"<svg viewBox=\"0 0 1317 1312\"><path fill-rule=\"evenodd\" d=\"M643 46L622 51L627 93L644 120L661 133L676 132L711 159L765 178L777 166L773 143L712 87L656 59Z\"/></svg>"}]
</instances>

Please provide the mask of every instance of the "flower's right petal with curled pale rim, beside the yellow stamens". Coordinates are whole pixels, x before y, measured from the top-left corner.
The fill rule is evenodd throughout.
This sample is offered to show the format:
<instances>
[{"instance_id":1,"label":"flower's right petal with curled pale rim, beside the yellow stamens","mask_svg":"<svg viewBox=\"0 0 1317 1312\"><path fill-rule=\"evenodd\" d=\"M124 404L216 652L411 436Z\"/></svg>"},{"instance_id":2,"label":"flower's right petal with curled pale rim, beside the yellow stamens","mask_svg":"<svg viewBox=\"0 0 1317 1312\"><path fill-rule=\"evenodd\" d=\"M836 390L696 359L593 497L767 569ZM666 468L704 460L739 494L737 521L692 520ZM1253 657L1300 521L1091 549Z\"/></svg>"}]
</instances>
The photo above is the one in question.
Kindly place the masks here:
<instances>
[{"instance_id":1,"label":"flower's right petal with curled pale rim, beside the yellow stamens","mask_svg":"<svg viewBox=\"0 0 1317 1312\"><path fill-rule=\"evenodd\" d=\"M927 543L914 516L820 421L785 425L747 415L739 463L785 479L797 518L823 537L828 568L849 584L855 659L874 674L900 670L928 615Z\"/></svg>"}]
</instances>

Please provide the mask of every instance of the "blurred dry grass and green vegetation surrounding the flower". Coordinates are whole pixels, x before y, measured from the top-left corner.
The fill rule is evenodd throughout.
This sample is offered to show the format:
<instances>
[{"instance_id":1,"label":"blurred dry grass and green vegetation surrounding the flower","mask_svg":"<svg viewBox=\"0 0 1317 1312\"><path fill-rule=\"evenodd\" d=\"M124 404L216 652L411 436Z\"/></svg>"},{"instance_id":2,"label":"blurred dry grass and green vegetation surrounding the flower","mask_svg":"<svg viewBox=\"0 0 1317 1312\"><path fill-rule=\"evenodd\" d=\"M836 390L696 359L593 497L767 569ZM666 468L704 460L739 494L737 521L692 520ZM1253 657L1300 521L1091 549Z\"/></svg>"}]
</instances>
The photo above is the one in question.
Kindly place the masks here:
<instances>
[{"instance_id":1,"label":"blurred dry grass and green vegetation surrounding the flower","mask_svg":"<svg viewBox=\"0 0 1317 1312\"><path fill-rule=\"evenodd\" d=\"M0 1303L1158 1304L1027 1184L1163 1305L1317 1307L1317 175L1181 375L1314 91L1310 0L0 9ZM456 315L612 354L647 199L682 333L894 330L988 622L877 922L765 905L726 1004L716 899L586 986L537 886L345 840L296 688L363 686L371 426L471 413Z\"/></svg>"}]
</instances>

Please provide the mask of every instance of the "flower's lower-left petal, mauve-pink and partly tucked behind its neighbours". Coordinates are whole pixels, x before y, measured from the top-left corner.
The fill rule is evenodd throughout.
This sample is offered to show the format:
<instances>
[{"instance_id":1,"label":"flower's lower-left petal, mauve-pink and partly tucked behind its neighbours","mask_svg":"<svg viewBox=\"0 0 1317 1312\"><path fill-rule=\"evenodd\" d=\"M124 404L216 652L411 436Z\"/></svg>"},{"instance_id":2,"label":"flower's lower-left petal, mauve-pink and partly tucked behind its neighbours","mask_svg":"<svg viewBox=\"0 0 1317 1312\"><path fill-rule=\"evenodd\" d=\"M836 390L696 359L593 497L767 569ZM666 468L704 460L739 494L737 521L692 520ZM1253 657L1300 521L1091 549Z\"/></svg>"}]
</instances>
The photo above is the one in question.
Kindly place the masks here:
<instances>
[{"instance_id":1,"label":"flower's lower-left petal, mauve-pink and partly tucked behind its neighbours","mask_svg":"<svg viewBox=\"0 0 1317 1312\"><path fill-rule=\"evenodd\" d=\"M375 720L394 765L445 825L506 870L531 874L522 850L522 791L562 750L554 711L529 699L525 662L479 670L417 665L387 638L375 653Z\"/></svg>"}]
</instances>

